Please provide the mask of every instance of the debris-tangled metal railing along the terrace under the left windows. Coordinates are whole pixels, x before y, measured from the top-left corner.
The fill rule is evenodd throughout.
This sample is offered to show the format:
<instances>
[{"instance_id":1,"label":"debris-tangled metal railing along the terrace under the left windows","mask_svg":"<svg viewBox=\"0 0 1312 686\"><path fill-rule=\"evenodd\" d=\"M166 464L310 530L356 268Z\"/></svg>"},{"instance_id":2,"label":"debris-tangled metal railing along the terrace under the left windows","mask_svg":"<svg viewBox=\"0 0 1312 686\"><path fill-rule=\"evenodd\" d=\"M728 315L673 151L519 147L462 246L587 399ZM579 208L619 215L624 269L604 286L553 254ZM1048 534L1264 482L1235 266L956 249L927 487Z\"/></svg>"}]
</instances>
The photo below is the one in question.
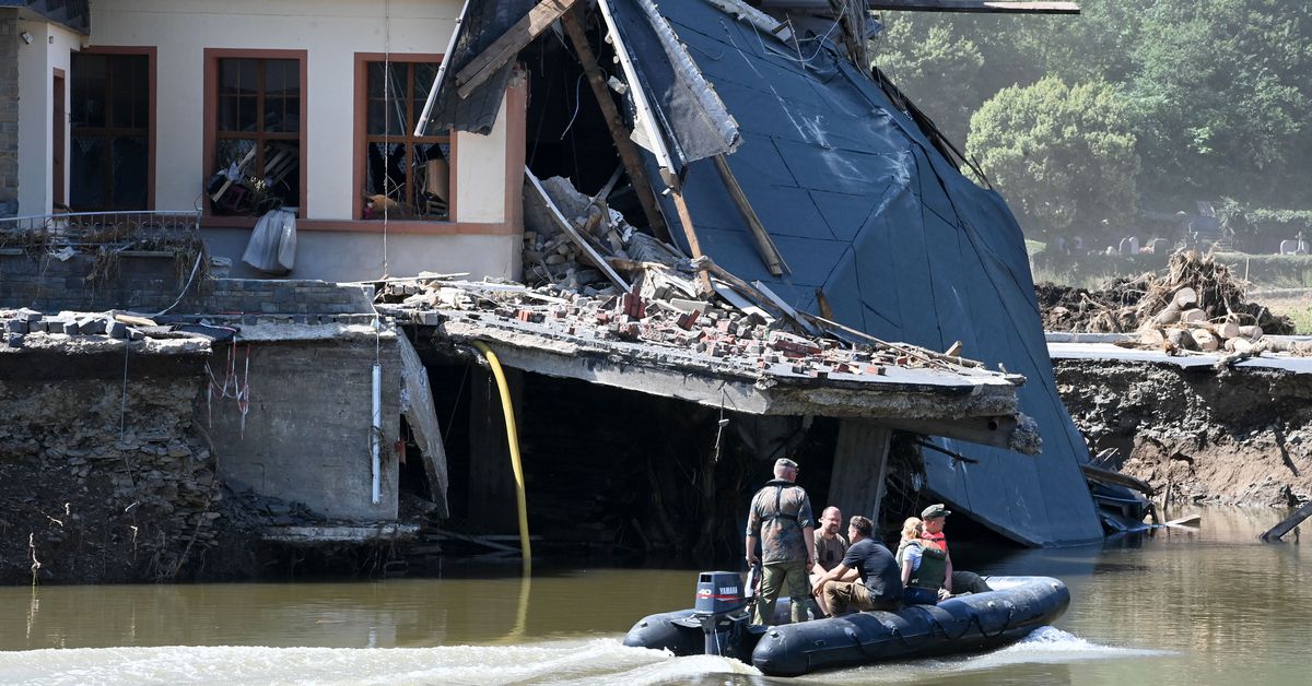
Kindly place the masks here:
<instances>
[{"instance_id":1,"label":"debris-tangled metal railing along the terrace under the left windows","mask_svg":"<svg viewBox=\"0 0 1312 686\"><path fill-rule=\"evenodd\" d=\"M73 252L176 249L201 240L201 212L112 211L0 219L0 248Z\"/></svg>"}]
</instances>

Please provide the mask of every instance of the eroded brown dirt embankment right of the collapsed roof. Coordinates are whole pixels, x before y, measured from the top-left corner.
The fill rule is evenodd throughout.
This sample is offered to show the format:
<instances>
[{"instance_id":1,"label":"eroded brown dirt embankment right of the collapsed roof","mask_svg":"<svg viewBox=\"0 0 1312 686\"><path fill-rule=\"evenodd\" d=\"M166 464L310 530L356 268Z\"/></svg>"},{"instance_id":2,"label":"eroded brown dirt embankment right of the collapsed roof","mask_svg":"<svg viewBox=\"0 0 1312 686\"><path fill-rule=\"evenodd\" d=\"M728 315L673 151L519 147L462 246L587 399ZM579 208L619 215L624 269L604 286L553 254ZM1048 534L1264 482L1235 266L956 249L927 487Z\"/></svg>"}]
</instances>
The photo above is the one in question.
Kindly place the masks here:
<instances>
[{"instance_id":1,"label":"eroded brown dirt embankment right of the collapsed roof","mask_svg":"<svg viewBox=\"0 0 1312 686\"><path fill-rule=\"evenodd\" d=\"M1093 453L1173 501L1298 505L1312 498L1312 375L1054 361Z\"/></svg>"}]
</instances>

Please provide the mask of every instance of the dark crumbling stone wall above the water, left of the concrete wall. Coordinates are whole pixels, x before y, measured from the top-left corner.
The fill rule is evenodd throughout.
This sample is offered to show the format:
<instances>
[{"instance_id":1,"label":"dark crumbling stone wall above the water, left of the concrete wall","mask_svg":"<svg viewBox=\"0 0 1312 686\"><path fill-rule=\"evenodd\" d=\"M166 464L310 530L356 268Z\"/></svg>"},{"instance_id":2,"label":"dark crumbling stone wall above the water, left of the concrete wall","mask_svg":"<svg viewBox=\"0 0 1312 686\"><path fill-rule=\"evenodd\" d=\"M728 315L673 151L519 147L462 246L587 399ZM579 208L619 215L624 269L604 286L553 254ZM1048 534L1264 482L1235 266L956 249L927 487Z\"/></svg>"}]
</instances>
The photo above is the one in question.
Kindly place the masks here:
<instances>
[{"instance_id":1,"label":"dark crumbling stone wall above the water, left of the concrete wall","mask_svg":"<svg viewBox=\"0 0 1312 686\"><path fill-rule=\"evenodd\" d=\"M126 383L121 346L0 354L0 584L171 580L227 564L206 560L227 523L194 418L209 345L171 344L190 348L133 359Z\"/></svg>"}]
</instances>

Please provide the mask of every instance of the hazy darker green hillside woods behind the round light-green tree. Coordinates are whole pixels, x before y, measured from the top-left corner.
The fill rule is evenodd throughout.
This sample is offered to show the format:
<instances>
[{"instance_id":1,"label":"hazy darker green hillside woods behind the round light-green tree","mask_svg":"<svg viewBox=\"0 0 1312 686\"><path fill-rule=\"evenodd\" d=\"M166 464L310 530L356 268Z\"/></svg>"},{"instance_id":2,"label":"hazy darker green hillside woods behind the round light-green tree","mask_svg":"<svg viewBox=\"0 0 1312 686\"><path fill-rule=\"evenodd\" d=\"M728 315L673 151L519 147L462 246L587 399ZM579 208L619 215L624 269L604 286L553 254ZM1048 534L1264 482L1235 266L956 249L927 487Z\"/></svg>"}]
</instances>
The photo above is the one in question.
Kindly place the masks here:
<instances>
[{"instance_id":1,"label":"hazy darker green hillside woods behind the round light-green tree","mask_svg":"<svg viewBox=\"0 0 1312 686\"><path fill-rule=\"evenodd\" d=\"M1107 81L1132 115L1144 206L1221 195L1312 206L1312 3L1080 5L1080 16L886 12L876 64L955 140L1005 88Z\"/></svg>"}]
</instances>

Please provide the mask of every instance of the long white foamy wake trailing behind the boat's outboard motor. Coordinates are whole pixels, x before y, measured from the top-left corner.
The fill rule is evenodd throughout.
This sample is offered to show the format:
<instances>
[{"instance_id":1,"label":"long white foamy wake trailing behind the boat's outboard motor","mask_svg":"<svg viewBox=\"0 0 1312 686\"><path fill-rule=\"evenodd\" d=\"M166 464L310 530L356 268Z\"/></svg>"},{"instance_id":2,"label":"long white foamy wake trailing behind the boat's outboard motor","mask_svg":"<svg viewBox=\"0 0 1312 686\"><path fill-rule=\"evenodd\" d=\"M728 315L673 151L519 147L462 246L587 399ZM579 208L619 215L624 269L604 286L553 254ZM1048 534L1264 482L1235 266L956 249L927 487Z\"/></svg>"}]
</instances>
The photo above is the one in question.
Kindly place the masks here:
<instances>
[{"instance_id":1,"label":"long white foamy wake trailing behind the boat's outboard motor","mask_svg":"<svg viewBox=\"0 0 1312 686\"><path fill-rule=\"evenodd\" d=\"M674 658L614 639L440 648L98 648L0 653L0 683L659 683L760 674L720 657Z\"/></svg>"}]
</instances>

